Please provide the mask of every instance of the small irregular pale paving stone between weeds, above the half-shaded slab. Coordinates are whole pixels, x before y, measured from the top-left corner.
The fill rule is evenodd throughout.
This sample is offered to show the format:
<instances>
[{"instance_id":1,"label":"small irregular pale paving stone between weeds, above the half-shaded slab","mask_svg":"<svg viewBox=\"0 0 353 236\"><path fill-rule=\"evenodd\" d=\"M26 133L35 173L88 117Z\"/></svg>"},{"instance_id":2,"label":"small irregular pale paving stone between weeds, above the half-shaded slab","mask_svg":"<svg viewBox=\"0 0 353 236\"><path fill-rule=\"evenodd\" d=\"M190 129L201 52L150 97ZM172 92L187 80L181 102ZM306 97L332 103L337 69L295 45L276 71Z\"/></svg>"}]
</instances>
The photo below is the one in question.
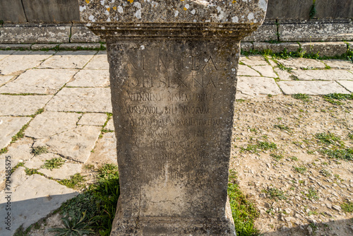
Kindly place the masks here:
<instances>
[{"instance_id":1,"label":"small irregular pale paving stone between weeds, above the half-shaded slab","mask_svg":"<svg viewBox=\"0 0 353 236\"><path fill-rule=\"evenodd\" d=\"M71 175L75 175L80 172L82 164L75 163L64 163L59 168L54 168L52 170L40 169L38 172L46 175L47 177L52 177L53 179L70 179Z\"/></svg>"}]
</instances>

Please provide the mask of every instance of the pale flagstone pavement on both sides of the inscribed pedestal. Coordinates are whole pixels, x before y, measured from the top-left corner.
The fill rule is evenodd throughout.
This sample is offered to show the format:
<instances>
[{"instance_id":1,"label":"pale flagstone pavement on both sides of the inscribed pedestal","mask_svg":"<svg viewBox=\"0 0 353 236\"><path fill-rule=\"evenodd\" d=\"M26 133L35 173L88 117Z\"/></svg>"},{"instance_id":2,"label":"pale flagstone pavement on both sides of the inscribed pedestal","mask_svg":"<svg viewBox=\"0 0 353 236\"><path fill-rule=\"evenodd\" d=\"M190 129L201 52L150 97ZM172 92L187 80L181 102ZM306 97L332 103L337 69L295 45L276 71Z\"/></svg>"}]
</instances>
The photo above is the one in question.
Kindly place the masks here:
<instances>
[{"instance_id":1,"label":"pale flagstone pavement on both sides of the inscribed pedestal","mask_svg":"<svg viewBox=\"0 0 353 236\"><path fill-rule=\"evenodd\" d=\"M11 212L11 230L3 218L0 235L13 235L78 194L56 180L85 165L116 163L108 69L104 51L0 51L0 216ZM297 93L353 93L353 63L241 56L237 99ZM32 153L42 146L47 153ZM42 168L52 158L65 164ZM6 182L7 167L18 163L24 166ZM29 169L42 175L27 175Z\"/></svg>"}]
</instances>

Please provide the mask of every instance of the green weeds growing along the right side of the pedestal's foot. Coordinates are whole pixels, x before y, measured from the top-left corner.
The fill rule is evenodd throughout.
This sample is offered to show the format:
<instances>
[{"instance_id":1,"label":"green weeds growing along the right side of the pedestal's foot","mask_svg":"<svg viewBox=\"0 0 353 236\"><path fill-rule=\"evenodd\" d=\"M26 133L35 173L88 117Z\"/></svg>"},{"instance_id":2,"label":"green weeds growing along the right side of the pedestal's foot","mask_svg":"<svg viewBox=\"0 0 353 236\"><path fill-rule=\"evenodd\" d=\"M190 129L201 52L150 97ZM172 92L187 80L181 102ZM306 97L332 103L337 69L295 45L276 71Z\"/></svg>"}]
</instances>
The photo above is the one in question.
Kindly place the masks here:
<instances>
[{"instance_id":1,"label":"green weeds growing along the right side of the pedestal's foot","mask_svg":"<svg viewBox=\"0 0 353 236\"><path fill-rule=\"evenodd\" d=\"M259 235L259 230L255 228L253 223L260 213L256 206L246 199L246 196L240 191L236 180L237 172L231 170L229 172L228 196L237 235Z\"/></svg>"}]
</instances>

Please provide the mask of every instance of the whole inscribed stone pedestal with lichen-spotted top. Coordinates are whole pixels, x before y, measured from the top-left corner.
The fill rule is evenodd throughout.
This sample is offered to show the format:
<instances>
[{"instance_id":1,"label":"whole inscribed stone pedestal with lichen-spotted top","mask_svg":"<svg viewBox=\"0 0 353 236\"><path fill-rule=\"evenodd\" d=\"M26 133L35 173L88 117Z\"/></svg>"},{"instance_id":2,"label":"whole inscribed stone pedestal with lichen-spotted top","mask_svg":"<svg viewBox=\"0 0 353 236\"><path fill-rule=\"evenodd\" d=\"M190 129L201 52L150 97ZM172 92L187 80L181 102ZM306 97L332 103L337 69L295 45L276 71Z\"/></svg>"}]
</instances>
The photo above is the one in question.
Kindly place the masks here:
<instances>
[{"instance_id":1,"label":"whole inscribed stone pedestal with lichen-spotted top","mask_svg":"<svg viewBox=\"0 0 353 236\"><path fill-rule=\"evenodd\" d=\"M121 195L111 235L235 235L239 42L267 2L79 1L107 40Z\"/></svg>"}]
</instances>

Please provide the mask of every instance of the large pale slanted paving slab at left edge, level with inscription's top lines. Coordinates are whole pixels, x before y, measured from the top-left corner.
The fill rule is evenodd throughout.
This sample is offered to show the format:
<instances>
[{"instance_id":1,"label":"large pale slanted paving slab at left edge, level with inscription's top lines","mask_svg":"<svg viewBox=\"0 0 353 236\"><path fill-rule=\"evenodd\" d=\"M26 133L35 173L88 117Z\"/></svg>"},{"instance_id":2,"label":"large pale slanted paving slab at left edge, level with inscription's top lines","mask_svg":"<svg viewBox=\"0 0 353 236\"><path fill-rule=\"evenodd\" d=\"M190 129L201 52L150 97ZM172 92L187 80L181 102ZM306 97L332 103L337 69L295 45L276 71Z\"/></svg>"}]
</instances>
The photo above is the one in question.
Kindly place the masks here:
<instances>
[{"instance_id":1,"label":"large pale slanted paving slab at left edge, level with inscription's top lines","mask_svg":"<svg viewBox=\"0 0 353 236\"><path fill-rule=\"evenodd\" d=\"M31 69L0 88L0 93L42 93L54 95L76 70Z\"/></svg>"}]
</instances>

